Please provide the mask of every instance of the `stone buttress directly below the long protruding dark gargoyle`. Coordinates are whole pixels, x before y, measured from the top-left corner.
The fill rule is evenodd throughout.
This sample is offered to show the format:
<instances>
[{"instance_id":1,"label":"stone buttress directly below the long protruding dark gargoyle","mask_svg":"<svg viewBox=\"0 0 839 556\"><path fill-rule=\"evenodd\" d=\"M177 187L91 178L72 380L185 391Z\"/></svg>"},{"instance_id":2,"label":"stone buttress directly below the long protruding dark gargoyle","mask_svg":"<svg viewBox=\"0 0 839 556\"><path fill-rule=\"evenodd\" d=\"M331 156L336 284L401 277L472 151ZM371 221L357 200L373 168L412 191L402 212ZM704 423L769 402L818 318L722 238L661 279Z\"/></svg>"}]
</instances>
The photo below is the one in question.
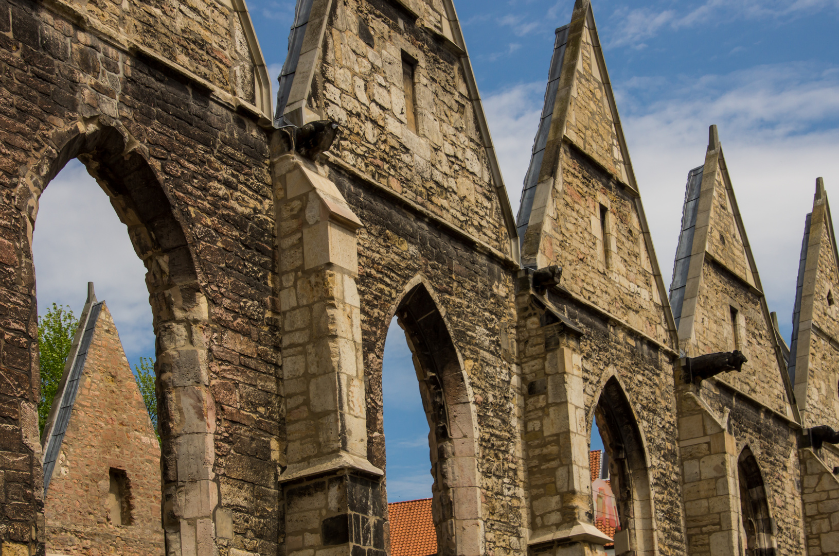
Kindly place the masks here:
<instances>
[{"instance_id":1,"label":"stone buttress directly below the long protruding dark gargoyle","mask_svg":"<svg viewBox=\"0 0 839 556\"><path fill-rule=\"evenodd\" d=\"M682 394L679 410L687 552L736 556L740 553L737 445L727 431L727 417L715 417L693 391Z\"/></svg>"}]
</instances>

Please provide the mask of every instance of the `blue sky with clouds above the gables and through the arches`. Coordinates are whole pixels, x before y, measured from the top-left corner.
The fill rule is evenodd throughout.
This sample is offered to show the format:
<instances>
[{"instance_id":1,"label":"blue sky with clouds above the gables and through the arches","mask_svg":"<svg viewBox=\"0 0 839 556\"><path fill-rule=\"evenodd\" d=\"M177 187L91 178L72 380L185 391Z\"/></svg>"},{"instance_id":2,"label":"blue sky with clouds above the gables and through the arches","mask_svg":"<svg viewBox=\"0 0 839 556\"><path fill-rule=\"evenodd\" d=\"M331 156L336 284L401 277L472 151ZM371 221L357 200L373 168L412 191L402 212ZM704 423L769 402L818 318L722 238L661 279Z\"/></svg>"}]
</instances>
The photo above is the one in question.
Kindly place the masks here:
<instances>
[{"instance_id":1,"label":"blue sky with clouds above the gables and through the arches","mask_svg":"<svg viewBox=\"0 0 839 556\"><path fill-rule=\"evenodd\" d=\"M554 29L568 23L573 0L455 2L516 209ZM275 77L294 2L251 0L248 7ZM770 310L789 338L816 177L824 176L829 196L839 196L839 0L596 0L593 8L665 285L685 178L702 164L707 127L716 123ZM78 163L44 193L34 235L40 311L56 301L79 312L86 281L96 281L136 361L154 354L144 269L107 203ZM409 465L427 461L427 443L416 444L428 431L421 407L407 403L419 401L419 393L410 393L414 371L404 368L399 335L388 334L386 345L393 361L386 391L391 378L407 381L391 389L401 409L385 401L388 454L398 454L389 469L392 501L429 496L421 489L430 485L427 464Z\"/></svg>"}]
</instances>

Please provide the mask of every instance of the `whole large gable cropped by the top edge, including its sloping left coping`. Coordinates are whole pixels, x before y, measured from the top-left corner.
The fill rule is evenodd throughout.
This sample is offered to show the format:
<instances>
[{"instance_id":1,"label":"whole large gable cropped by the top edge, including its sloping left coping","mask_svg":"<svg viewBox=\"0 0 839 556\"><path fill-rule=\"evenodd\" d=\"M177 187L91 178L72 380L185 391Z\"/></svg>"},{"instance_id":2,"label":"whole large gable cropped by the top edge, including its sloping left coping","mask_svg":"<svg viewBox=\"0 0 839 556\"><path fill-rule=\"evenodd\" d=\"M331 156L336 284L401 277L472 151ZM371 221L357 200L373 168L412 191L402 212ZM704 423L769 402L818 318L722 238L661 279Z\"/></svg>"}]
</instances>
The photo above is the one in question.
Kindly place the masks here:
<instances>
[{"instance_id":1,"label":"whole large gable cropped by the top edge, including its sloping left coping","mask_svg":"<svg viewBox=\"0 0 839 556\"><path fill-rule=\"evenodd\" d=\"M331 160L518 259L451 0L298 0L274 125L331 119Z\"/></svg>"}]
</instances>

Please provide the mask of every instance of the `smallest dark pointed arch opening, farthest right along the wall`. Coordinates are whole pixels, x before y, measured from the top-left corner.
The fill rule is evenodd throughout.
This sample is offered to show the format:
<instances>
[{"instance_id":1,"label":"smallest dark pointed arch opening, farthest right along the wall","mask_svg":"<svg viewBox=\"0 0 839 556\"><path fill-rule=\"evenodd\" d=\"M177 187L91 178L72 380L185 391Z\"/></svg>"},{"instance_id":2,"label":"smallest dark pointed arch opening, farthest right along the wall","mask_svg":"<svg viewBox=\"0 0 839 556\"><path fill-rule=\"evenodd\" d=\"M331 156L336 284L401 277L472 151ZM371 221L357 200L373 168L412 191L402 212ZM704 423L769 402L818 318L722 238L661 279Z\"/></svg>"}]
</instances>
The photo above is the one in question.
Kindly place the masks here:
<instances>
[{"instance_id":1,"label":"smallest dark pointed arch opening, farthest right along the wall","mask_svg":"<svg viewBox=\"0 0 839 556\"><path fill-rule=\"evenodd\" d=\"M774 521L763 475L757 459L747 447L737 459L737 481L740 485L740 553L744 556L774 556Z\"/></svg>"}]
</instances>

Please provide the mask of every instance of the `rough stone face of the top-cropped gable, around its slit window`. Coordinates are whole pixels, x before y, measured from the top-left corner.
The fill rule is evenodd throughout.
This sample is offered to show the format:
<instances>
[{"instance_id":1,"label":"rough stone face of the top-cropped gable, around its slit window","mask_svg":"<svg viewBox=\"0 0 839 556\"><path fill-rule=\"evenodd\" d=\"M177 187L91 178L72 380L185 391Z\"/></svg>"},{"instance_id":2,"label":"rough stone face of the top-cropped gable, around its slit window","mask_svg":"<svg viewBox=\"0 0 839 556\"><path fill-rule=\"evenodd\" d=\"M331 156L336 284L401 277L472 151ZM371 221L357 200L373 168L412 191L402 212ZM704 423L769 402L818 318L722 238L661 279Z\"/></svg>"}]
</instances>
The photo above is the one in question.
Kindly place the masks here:
<instances>
[{"instance_id":1,"label":"rough stone face of the top-cropped gable, around its slit window","mask_svg":"<svg viewBox=\"0 0 839 556\"><path fill-rule=\"evenodd\" d=\"M425 3L415 4L420 9ZM344 126L333 147L341 160L508 252L509 236L498 224L501 205L460 59L420 26L436 20L439 27L442 6L430 4L425 18L414 20L398 3L334 2L310 106ZM359 38L360 25L369 30L373 45ZM416 60L415 133L405 113L403 53Z\"/></svg>"}]
</instances>

